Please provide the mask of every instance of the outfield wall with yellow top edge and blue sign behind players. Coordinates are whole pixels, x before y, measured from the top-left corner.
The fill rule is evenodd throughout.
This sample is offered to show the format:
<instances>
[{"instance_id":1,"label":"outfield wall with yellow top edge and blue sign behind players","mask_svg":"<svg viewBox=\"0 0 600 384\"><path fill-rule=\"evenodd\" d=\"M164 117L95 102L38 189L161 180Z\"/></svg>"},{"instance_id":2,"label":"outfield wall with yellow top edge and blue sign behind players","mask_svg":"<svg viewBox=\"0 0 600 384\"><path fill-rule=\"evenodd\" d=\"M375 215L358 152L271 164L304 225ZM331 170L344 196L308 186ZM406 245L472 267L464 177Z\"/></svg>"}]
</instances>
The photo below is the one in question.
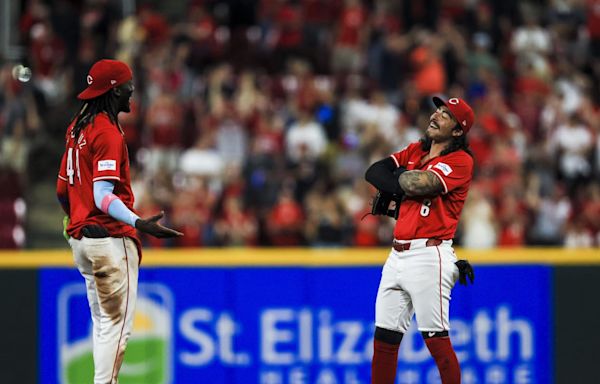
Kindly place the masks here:
<instances>
[{"instance_id":1,"label":"outfield wall with yellow top edge and blue sign behind players","mask_svg":"<svg viewBox=\"0 0 600 384\"><path fill-rule=\"evenodd\" d=\"M368 383L386 249L147 251L120 383ZM465 383L588 383L600 250L457 250L452 340ZM90 382L90 320L68 250L0 252L2 383ZM587 332L586 330L593 330ZM435 383L415 329L399 383Z\"/></svg>"}]
</instances>

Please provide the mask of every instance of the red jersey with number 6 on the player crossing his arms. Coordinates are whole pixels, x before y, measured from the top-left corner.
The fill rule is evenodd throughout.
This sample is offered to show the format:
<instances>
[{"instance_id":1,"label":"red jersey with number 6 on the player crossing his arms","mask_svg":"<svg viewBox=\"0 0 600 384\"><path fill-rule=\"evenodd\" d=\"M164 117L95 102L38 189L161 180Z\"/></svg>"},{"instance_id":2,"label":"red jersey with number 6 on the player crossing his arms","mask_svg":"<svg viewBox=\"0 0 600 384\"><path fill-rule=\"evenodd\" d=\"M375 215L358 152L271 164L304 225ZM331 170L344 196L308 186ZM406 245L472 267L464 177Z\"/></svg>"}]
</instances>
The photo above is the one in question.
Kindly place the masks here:
<instances>
[{"instance_id":1,"label":"red jersey with number 6 on the player crossing his arms","mask_svg":"<svg viewBox=\"0 0 600 384\"><path fill-rule=\"evenodd\" d=\"M437 196L407 196L400 205L394 228L397 240L450 240L462 211L473 177L473 158L463 150L422 161L428 151L413 143L392 155L398 167L429 171L435 174L444 191Z\"/></svg>"}]
</instances>

